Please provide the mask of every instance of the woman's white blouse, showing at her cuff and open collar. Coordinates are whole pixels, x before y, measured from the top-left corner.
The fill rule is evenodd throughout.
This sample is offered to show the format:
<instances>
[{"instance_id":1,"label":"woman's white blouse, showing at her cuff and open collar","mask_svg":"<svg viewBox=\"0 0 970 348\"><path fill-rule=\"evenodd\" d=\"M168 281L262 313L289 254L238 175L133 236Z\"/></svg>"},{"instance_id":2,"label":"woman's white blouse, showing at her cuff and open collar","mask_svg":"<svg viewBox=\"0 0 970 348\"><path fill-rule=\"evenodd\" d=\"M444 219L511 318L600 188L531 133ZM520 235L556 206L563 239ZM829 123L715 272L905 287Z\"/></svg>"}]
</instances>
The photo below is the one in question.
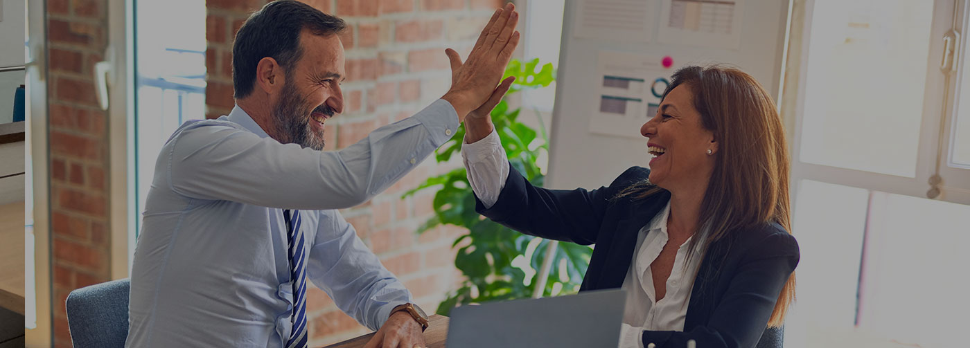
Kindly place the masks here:
<instances>
[{"instance_id":1,"label":"woman's white blouse, showing at her cuff and open collar","mask_svg":"<svg viewBox=\"0 0 970 348\"><path fill-rule=\"evenodd\" d=\"M471 189L486 207L499 201L501 189L508 178L508 158L501 147L499 135L492 131L484 139L462 144L462 160L468 169ZM667 217L670 204L663 208L646 226L640 229L633 250L630 269L623 282L627 291L627 309L623 314L623 328L620 332L620 347L643 347L643 331L684 331L687 305L691 301L691 290L697 268L700 266L701 246L694 250L688 247L688 238L677 250L673 269L666 281L666 294L661 301L655 301L654 280L650 265L660 255L667 242ZM692 237L693 238L693 237ZM688 260L688 255L691 255Z\"/></svg>"}]
</instances>

